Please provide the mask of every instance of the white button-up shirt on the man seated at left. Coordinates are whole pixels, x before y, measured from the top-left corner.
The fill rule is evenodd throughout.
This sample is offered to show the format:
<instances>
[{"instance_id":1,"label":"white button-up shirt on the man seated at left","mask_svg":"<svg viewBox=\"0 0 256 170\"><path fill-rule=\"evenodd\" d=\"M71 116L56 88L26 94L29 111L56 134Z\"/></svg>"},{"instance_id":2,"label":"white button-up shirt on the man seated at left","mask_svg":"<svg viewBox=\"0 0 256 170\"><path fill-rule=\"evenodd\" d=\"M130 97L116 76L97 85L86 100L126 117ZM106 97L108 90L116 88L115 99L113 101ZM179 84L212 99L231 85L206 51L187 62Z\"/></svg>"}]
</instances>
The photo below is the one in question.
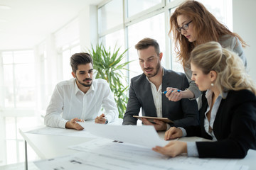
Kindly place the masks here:
<instances>
[{"instance_id":1,"label":"white button-up shirt on the man seated at left","mask_svg":"<svg viewBox=\"0 0 256 170\"><path fill-rule=\"evenodd\" d=\"M80 91L75 78L61 81L55 86L50 99L45 124L65 128L68 120L73 118L94 120L101 114L101 106L105 109L109 122L118 118L117 104L109 84L104 79L94 79L86 94Z\"/></svg>"}]
</instances>

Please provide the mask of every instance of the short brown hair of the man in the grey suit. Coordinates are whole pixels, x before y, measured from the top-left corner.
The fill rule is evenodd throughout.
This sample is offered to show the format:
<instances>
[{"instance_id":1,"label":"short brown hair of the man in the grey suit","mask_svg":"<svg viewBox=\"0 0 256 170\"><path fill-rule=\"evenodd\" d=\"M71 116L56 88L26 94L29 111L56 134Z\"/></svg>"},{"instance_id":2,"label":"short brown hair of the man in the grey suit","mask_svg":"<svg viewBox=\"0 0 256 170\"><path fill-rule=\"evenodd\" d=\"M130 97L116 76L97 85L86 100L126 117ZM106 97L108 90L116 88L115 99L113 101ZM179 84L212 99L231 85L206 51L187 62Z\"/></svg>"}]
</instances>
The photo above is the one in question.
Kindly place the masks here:
<instances>
[{"instance_id":1,"label":"short brown hair of the man in the grey suit","mask_svg":"<svg viewBox=\"0 0 256 170\"><path fill-rule=\"evenodd\" d=\"M135 48L137 50L144 50L144 49L148 48L149 46L153 46L154 49L156 50L156 54L159 55L159 53L160 53L159 43L156 42L156 40L154 40L152 38L144 38L144 39L140 40L137 43L137 45L135 45Z\"/></svg>"}]
</instances>

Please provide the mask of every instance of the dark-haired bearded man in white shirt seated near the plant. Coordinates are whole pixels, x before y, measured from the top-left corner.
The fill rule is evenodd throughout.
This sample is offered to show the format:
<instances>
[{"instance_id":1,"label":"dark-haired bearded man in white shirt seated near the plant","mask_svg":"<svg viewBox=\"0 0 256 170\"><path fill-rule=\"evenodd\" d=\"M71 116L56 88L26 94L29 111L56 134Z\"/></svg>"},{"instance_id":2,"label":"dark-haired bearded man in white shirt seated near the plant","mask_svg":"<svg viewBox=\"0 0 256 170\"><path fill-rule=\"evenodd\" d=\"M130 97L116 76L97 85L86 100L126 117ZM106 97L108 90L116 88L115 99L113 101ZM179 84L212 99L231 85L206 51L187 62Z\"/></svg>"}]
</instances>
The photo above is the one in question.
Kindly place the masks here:
<instances>
[{"instance_id":1,"label":"dark-haired bearded man in white shirt seated near the plant","mask_svg":"<svg viewBox=\"0 0 256 170\"><path fill-rule=\"evenodd\" d=\"M118 118L117 105L104 79L93 79L93 62L88 53L70 57L73 79L55 86L46 111L45 124L55 128L82 130L77 121L110 123ZM101 106L105 114L99 115Z\"/></svg>"}]
</instances>

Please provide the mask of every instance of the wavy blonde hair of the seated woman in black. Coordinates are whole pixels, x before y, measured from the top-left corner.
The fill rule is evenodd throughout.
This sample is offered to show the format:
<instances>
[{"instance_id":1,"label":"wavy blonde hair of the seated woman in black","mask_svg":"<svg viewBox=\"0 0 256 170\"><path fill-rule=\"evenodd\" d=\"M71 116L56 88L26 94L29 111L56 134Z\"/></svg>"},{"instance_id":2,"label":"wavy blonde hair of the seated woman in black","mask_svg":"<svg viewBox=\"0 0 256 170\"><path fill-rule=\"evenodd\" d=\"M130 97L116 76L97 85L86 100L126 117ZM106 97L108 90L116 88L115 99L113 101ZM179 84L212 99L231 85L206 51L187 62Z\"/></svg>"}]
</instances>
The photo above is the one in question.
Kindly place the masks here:
<instances>
[{"instance_id":1,"label":"wavy blonde hair of the seated woman in black","mask_svg":"<svg viewBox=\"0 0 256 170\"><path fill-rule=\"evenodd\" d=\"M190 62L202 69L204 74L211 70L217 73L215 86L223 91L247 89L256 95L256 86L245 71L242 60L235 52L221 47L218 42L206 42L191 52Z\"/></svg>"}]
</instances>

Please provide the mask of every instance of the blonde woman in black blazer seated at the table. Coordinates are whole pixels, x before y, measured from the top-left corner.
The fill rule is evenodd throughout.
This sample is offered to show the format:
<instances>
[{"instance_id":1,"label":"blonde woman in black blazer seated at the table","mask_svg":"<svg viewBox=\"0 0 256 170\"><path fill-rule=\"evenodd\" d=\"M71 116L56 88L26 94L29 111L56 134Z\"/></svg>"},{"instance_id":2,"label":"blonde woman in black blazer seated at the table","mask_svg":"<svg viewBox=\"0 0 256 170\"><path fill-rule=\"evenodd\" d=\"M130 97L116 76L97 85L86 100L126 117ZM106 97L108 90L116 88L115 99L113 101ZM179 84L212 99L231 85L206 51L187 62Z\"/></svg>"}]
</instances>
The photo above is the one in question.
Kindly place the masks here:
<instances>
[{"instance_id":1,"label":"blonde woman in black blazer seated at the table","mask_svg":"<svg viewBox=\"0 0 256 170\"><path fill-rule=\"evenodd\" d=\"M200 125L170 128L165 140L198 136L214 142L171 141L154 151L175 157L243 158L256 149L256 88L240 57L218 42L191 52L192 80L203 92Z\"/></svg>"}]
</instances>

